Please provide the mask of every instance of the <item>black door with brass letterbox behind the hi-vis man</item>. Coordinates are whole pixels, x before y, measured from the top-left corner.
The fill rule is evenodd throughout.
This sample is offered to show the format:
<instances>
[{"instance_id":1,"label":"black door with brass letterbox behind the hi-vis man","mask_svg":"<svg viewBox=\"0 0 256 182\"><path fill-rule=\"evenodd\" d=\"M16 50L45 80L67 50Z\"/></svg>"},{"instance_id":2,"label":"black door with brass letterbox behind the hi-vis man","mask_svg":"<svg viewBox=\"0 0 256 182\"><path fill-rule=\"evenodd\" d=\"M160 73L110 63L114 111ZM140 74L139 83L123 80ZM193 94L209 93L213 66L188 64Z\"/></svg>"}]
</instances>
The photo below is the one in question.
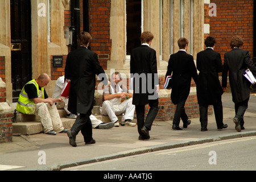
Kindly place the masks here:
<instances>
[{"instance_id":1,"label":"black door with brass letterbox behind the hi-vis man","mask_svg":"<svg viewBox=\"0 0 256 182\"><path fill-rule=\"evenodd\" d=\"M31 0L10 0L11 7L11 82L13 102L23 86L32 80Z\"/></svg>"}]
</instances>

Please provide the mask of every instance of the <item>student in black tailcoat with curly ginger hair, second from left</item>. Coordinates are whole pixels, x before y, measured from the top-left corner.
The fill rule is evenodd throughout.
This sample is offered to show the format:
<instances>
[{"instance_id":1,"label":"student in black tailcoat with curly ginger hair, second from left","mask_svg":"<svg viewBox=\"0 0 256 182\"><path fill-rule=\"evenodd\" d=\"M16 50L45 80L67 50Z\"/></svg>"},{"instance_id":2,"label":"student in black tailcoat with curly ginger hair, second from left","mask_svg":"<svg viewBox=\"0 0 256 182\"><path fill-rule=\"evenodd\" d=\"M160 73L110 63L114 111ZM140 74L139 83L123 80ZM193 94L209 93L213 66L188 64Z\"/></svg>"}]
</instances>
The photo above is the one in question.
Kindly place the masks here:
<instances>
[{"instance_id":1,"label":"student in black tailcoat with curly ginger hair, second from left","mask_svg":"<svg viewBox=\"0 0 256 182\"><path fill-rule=\"evenodd\" d=\"M149 131L158 114L159 80L156 61L156 52L150 48L154 35L143 32L141 35L142 46L131 52L130 73L133 81L133 105L137 114L139 140L150 139ZM145 105L150 106L144 120Z\"/></svg>"}]
</instances>

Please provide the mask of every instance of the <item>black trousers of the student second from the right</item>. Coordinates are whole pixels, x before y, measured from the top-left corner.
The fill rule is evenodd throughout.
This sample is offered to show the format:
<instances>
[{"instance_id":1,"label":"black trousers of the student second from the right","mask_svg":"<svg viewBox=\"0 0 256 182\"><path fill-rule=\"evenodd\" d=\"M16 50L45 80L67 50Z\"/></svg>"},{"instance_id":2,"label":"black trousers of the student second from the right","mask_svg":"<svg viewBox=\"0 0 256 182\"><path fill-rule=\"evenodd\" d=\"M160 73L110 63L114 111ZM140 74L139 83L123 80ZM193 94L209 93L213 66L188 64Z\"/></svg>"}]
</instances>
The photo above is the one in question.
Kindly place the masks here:
<instances>
[{"instance_id":1,"label":"black trousers of the student second from the right","mask_svg":"<svg viewBox=\"0 0 256 182\"><path fill-rule=\"evenodd\" d=\"M221 128L223 123L223 106L221 98L216 102L216 104L213 105L215 120L217 124L217 128ZM207 106L199 106L200 111L200 122L201 127L207 128L208 125L208 105Z\"/></svg>"}]
</instances>

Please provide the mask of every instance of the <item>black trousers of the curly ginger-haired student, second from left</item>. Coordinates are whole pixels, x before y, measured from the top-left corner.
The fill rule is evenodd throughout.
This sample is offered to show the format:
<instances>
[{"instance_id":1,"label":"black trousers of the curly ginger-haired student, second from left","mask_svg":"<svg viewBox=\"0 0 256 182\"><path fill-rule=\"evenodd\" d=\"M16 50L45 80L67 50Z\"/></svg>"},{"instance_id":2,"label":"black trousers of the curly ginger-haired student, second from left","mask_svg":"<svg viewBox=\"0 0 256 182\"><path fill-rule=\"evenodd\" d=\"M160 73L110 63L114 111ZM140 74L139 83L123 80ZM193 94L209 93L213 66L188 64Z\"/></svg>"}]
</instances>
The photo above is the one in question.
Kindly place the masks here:
<instances>
[{"instance_id":1,"label":"black trousers of the curly ginger-haired student, second from left","mask_svg":"<svg viewBox=\"0 0 256 182\"><path fill-rule=\"evenodd\" d=\"M151 130L152 123L158 114L158 99L150 100L148 103L150 110L147 113L147 117L144 120L145 115L145 105L135 105L136 115L137 115L137 126L139 135L143 135L141 129L143 126L146 126L148 130Z\"/></svg>"}]
</instances>

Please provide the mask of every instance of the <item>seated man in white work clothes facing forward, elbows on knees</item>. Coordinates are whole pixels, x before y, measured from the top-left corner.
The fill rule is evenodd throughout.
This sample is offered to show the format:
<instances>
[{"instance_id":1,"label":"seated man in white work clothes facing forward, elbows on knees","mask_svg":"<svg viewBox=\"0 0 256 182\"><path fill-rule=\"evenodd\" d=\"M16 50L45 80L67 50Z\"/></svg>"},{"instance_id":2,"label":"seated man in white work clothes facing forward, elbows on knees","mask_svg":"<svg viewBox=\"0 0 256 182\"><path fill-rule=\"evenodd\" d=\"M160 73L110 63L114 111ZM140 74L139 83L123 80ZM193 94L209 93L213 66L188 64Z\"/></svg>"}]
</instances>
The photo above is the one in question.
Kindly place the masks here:
<instances>
[{"instance_id":1,"label":"seated man in white work clothes facing forward, elbows on knees","mask_svg":"<svg viewBox=\"0 0 256 182\"><path fill-rule=\"evenodd\" d=\"M107 93L103 94L102 107L100 112L102 115L108 115L115 127L119 126L117 115L125 113L125 125L135 126L133 123L135 105L133 102L133 94L125 85L121 84L122 78L119 72L114 72L111 76L110 86ZM122 102L123 100L123 102Z\"/></svg>"}]
</instances>

